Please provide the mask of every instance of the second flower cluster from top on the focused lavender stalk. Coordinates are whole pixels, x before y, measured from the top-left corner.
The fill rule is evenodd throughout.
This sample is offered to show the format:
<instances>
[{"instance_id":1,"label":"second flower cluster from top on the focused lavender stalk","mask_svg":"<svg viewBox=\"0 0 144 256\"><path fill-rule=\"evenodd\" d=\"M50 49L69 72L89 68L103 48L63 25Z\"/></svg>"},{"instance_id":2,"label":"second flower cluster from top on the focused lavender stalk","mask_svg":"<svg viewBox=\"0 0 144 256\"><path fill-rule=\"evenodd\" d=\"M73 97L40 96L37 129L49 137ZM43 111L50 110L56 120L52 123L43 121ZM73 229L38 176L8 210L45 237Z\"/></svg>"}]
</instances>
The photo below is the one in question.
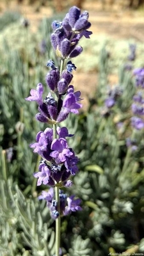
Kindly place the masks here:
<instances>
[{"instance_id":1,"label":"second flower cluster from top on the focused lavender stalk","mask_svg":"<svg viewBox=\"0 0 144 256\"><path fill-rule=\"evenodd\" d=\"M72 67L69 67L70 62L68 61L68 70L74 69L72 68L74 66L73 63ZM81 92L74 92L74 86L68 85L72 77L72 74L67 70L63 70L60 76L60 70L53 66L52 70L47 74L45 78L47 86L58 95L58 101L54 99L51 92L43 100L44 86L42 83L38 83L36 90L31 89L31 96L26 100L36 101L39 105L39 112L35 116L38 121L49 124L60 123L68 117L70 112L79 113L78 109L82 107L82 104L79 103ZM65 99L62 99L64 95Z\"/></svg>"}]
</instances>

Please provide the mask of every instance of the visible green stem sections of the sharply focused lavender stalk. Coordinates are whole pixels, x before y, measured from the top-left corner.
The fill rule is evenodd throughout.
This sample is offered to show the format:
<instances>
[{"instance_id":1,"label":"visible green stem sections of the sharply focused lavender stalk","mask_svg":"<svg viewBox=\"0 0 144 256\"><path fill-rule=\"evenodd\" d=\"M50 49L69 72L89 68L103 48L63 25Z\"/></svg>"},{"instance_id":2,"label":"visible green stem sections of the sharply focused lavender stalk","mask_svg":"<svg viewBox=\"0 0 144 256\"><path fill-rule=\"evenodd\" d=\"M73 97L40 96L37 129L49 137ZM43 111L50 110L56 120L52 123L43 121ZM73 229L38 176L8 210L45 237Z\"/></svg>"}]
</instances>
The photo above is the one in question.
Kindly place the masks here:
<instances>
[{"instance_id":1,"label":"visible green stem sections of the sharply focused lavender stalk","mask_svg":"<svg viewBox=\"0 0 144 256\"><path fill-rule=\"evenodd\" d=\"M61 59L60 64L60 76L63 72L65 59ZM58 99L56 99L58 100ZM53 125L53 140L56 139L56 124ZM55 196L56 196L56 202L58 206L58 212L60 213L60 196L59 196L59 188L58 186L55 186ZM59 256L59 250L60 250L60 236L61 236L61 217L60 215L56 219L56 256Z\"/></svg>"}]
</instances>

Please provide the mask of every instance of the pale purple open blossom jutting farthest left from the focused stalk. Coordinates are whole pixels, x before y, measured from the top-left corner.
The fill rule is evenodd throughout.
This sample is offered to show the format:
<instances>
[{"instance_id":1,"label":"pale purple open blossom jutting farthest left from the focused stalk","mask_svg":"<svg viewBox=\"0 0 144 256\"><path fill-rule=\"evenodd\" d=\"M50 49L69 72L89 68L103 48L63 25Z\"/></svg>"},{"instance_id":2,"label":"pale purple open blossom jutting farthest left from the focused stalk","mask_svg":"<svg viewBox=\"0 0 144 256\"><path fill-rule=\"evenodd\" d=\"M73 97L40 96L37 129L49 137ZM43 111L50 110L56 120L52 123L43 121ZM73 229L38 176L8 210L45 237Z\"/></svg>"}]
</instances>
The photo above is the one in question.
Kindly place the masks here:
<instances>
[{"instance_id":1,"label":"pale purple open blossom jutting farthest left from the focused stalk","mask_svg":"<svg viewBox=\"0 0 144 256\"><path fill-rule=\"evenodd\" d=\"M41 83L38 83L38 85L36 86L36 90L31 89L31 91L30 91L31 96L26 98L26 100L36 101L38 103L38 105L41 105L43 102L43 100L42 100L43 92L44 92L43 85Z\"/></svg>"}]
</instances>

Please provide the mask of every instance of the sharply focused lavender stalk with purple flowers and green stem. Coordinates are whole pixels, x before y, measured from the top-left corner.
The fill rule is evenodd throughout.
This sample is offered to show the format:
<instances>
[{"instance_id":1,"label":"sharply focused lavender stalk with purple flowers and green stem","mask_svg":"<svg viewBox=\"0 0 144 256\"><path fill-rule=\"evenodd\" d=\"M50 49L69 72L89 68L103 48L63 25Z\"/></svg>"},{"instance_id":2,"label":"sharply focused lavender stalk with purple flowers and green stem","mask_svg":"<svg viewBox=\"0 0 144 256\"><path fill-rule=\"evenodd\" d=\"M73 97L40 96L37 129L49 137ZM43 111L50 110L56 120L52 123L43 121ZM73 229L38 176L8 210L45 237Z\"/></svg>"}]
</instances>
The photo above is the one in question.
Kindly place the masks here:
<instances>
[{"instance_id":1,"label":"sharply focused lavender stalk with purple flowers and green stem","mask_svg":"<svg viewBox=\"0 0 144 256\"><path fill-rule=\"evenodd\" d=\"M56 220L56 256L60 255L61 216L81 210L81 199L75 198L75 195L67 196L61 189L72 186L70 177L78 172L79 159L66 139L74 134L69 134L67 127L61 127L60 123L70 113L78 114L82 107L79 103L81 92L74 92L74 86L70 84L76 66L69 59L79 56L83 51L78 43L82 36L90 38L92 32L87 30L90 26L88 12L81 13L76 6L70 8L62 22L52 22L51 44L61 60L60 67L56 67L52 60L47 62L51 70L45 82L50 92L45 99L42 83L38 83L36 90L32 89L31 95L26 98L38 104L36 120L52 125L52 128L47 127L38 132L36 142L30 147L41 157L39 171L33 174L38 179L37 186L44 184L50 187L49 191L42 191L38 199L46 200L51 217ZM66 67L65 60L68 60Z\"/></svg>"}]
</instances>

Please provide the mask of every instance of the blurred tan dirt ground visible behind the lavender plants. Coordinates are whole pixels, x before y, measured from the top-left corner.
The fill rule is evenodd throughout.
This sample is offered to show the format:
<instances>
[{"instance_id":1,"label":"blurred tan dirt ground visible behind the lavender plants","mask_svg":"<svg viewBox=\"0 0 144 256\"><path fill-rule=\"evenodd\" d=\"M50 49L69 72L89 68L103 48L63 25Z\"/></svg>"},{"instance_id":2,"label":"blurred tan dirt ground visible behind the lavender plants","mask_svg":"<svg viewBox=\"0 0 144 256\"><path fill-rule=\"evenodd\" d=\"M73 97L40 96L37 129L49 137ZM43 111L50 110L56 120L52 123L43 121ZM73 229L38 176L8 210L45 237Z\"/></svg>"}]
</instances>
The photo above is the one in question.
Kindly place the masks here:
<instances>
[{"instance_id":1,"label":"blurred tan dirt ground visible behind the lavender plants","mask_svg":"<svg viewBox=\"0 0 144 256\"><path fill-rule=\"evenodd\" d=\"M26 3L17 4L17 1L9 1L4 0L4 2L0 2L0 14L6 9L20 11L29 20L33 32L38 28L40 20L44 17L51 17L53 13L49 6L38 8L36 5L29 6ZM90 14L89 20L92 22L92 28L90 30L93 31L93 34L106 34L111 36L113 40L134 38L139 42L144 42L144 8L134 11L122 9L116 5L113 8L106 5L105 10L102 9L103 7L97 0L87 0L83 4L83 9L88 10ZM92 96L95 92L97 75L74 73L74 85L79 84L80 81L82 97L86 99L87 96ZM77 85L76 89L79 89ZM85 106L88 104L87 100L85 100L84 104Z\"/></svg>"}]
</instances>

